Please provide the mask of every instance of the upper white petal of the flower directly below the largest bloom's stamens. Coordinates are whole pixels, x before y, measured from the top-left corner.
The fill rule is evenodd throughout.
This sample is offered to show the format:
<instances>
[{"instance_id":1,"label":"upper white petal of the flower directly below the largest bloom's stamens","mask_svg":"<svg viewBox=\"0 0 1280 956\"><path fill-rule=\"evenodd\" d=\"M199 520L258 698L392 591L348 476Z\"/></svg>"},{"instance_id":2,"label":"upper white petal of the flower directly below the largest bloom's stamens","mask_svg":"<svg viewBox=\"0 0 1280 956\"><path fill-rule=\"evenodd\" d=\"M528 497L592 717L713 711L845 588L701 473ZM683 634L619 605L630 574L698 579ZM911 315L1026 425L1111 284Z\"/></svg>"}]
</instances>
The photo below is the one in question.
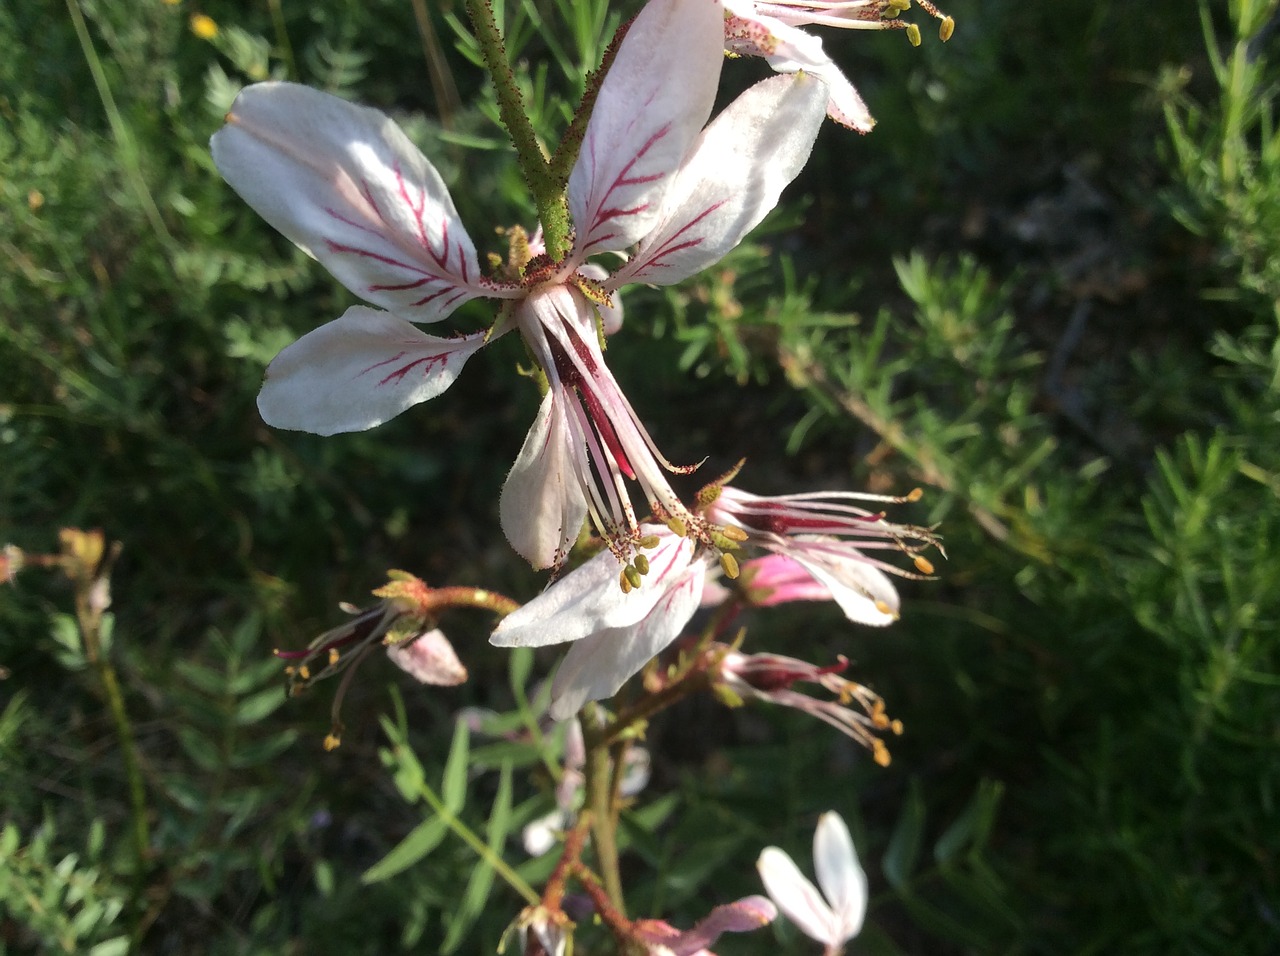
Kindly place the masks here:
<instances>
[{"instance_id":1,"label":"upper white petal of the flower directly below the largest bloom's stamens","mask_svg":"<svg viewBox=\"0 0 1280 956\"><path fill-rule=\"evenodd\" d=\"M498 648L541 648L579 641L617 627L637 623L689 567L694 545L676 538L662 525L641 525L641 534L658 534L658 546L648 552L649 573L640 587L623 593L618 585L622 566L609 552L600 552L508 614L489 642Z\"/></svg>"}]
</instances>

